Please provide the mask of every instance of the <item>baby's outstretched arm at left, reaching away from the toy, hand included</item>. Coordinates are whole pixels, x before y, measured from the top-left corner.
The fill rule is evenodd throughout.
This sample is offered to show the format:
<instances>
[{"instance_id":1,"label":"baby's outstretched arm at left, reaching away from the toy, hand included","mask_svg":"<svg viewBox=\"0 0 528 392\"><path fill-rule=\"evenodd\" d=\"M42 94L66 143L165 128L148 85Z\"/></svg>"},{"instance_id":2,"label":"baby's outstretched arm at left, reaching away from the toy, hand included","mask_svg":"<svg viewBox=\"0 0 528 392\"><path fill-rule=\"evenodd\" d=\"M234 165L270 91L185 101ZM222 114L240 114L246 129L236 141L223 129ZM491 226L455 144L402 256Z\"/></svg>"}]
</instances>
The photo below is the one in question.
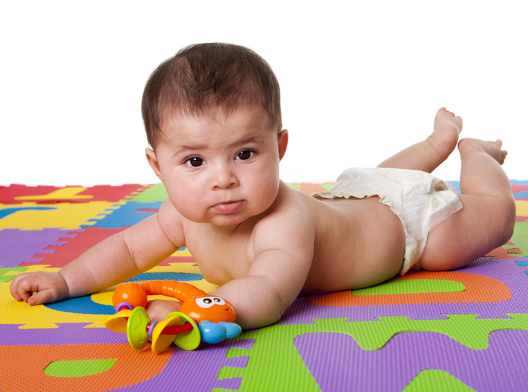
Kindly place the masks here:
<instances>
[{"instance_id":1,"label":"baby's outstretched arm at left, reaching away from the toy, hand included","mask_svg":"<svg viewBox=\"0 0 528 392\"><path fill-rule=\"evenodd\" d=\"M165 202L152 215L95 245L58 272L19 274L10 285L17 301L39 305L98 292L154 267L184 244L181 222L172 222L170 238L162 229L174 215ZM172 208L174 209L174 208ZM37 292L33 294L33 292Z\"/></svg>"}]
</instances>

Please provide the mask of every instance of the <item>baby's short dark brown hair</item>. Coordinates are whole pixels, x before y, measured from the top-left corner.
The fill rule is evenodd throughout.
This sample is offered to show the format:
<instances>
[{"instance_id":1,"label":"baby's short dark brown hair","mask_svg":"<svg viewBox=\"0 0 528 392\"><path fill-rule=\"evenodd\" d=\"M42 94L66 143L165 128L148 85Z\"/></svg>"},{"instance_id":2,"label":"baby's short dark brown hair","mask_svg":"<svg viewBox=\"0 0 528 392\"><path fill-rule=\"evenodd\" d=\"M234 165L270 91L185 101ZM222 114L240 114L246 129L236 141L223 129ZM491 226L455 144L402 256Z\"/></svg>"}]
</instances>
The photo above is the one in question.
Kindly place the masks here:
<instances>
[{"instance_id":1,"label":"baby's short dark brown hair","mask_svg":"<svg viewBox=\"0 0 528 392\"><path fill-rule=\"evenodd\" d=\"M262 107L270 127L280 132L280 88L260 55L232 44L194 44L181 49L150 75L141 110L152 148L161 140L163 121L174 115L229 114L244 105Z\"/></svg>"}]
</instances>

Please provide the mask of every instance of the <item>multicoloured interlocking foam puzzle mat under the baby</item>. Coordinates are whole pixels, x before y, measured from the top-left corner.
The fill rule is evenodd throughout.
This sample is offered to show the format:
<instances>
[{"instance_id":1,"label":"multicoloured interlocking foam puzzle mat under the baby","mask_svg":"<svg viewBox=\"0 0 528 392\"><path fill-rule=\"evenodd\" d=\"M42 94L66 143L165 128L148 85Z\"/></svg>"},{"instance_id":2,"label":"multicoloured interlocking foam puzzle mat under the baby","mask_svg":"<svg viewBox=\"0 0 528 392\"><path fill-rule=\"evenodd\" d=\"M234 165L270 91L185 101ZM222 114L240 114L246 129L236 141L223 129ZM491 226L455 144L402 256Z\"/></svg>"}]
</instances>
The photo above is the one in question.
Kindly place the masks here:
<instances>
[{"instance_id":1,"label":"multicoloured interlocking foam puzzle mat under the baby","mask_svg":"<svg viewBox=\"0 0 528 392\"><path fill-rule=\"evenodd\" d=\"M289 185L310 194L332 184ZM156 213L163 185L0 186L0 392L527 391L528 181L511 186L513 237L462 269L299 297L273 326L160 355L104 328L115 287L30 308L9 285ZM134 278L152 279L216 287L187 249Z\"/></svg>"}]
</instances>

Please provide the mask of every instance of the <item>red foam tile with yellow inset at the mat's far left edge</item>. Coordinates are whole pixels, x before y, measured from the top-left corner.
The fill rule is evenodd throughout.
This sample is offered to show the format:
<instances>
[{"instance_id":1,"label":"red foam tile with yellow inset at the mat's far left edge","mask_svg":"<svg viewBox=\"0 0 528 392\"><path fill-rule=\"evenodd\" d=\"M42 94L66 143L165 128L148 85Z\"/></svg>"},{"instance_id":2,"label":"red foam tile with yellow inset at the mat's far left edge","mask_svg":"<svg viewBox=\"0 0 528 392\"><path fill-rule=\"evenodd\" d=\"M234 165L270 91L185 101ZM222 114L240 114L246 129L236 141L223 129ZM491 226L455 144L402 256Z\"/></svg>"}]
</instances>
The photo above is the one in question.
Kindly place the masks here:
<instances>
[{"instance_id":1,"label":"red foam tile with yellow inset at the mat's far left edge","mask_svg":"<svg viewBox=\"0 0 528 392\"><path fill-rule=\"evenodd\" d=\"M149 188L149 185L127 184L120 186L25 186L11 184L0 186L0 203L20 204L37 202L53 204L58 202L119 202L131 199Z\"/></svg>"}]
</instances>

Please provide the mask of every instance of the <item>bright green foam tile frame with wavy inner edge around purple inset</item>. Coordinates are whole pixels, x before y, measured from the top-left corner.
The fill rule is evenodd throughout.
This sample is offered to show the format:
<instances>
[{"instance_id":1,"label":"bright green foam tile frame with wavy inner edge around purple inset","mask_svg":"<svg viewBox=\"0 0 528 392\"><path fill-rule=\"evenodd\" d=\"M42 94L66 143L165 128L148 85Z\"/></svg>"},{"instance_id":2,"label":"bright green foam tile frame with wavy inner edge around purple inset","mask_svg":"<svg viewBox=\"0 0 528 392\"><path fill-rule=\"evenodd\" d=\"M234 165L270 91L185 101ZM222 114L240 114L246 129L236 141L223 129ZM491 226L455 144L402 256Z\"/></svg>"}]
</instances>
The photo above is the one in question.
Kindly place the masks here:
<instances>
[{"instance_id":1,"label":"bright green foam tile frame with wavy inner edge around purple inset","mask_svg":"<svg viewBox=\"0 0 528 392\"><path fill-rule=\"evenodd\" d=\"M293 339L314 332L339 332L355 339L363 350L380 350L403 332L437 332L473 350L488 347L489 334L495 330L528 330L528 314L508 314L513 319L476 319L476 314L453 314L446 320L409 320L408 317L379 317L379 321L317 319L312 324L280 325L243 332L236 339L255 339L253 348L230 349L227 357L248 355L246 368L220 368L218 379L242 377L239 392L320 391L304 365ZM448 389L446 389L448 390ZM215 389L219 392L222 389Z\"/></svg>"}]
</instances>

